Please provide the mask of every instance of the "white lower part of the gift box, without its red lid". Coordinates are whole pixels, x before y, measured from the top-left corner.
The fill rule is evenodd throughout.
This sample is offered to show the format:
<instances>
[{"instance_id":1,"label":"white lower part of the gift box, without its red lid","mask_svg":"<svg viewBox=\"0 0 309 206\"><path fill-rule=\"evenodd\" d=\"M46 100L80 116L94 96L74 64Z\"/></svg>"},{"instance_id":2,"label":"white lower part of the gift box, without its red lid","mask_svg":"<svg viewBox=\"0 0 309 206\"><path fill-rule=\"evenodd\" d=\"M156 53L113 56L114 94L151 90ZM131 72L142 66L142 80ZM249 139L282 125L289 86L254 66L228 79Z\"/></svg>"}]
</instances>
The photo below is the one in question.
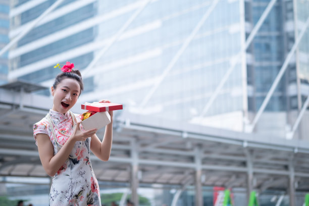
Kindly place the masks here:
<instances>
[{"instance_id":1,"label":"white lower part of the gift box, without its red lid","mask_svg":"<svg viewBox=\"0 0 309 206\"><path fill-rule=\"evenodd\" d=\"M81 125L85 130L101 129L111 123L111 116L109 112L97 112L91 117L83 120Z\"/></svg>"}]
</instances>

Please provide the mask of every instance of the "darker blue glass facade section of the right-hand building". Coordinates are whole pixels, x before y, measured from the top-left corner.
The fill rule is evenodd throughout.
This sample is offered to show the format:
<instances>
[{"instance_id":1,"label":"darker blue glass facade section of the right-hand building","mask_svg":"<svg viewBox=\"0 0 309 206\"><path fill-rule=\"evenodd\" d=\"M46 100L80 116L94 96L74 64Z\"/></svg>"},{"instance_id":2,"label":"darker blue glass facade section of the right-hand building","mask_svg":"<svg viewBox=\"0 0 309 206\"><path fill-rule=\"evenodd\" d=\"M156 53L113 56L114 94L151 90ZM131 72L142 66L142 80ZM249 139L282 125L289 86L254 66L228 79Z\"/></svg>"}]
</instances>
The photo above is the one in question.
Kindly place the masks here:
<instances>
[{"instance_id":1,"label":"darker blue glass facade section of the right-hand building","mask_svg":"<svg viewBox=\"0 0 309 206\"><path fill-rule=\"evenodd\" d=\"M254 0L246 3L248 4L247 22L252 26L256 25L269 2ZM277 1L255 35L248 51L254 57L254 61L248 65L248 75L252 76L248 84L254 88L254 93L248 96L249 111L259 110L285 59L283 16L282 2ZM283 78L267 105L266 111L286 110L285 84Z\"/></svg>"}]
</instances>

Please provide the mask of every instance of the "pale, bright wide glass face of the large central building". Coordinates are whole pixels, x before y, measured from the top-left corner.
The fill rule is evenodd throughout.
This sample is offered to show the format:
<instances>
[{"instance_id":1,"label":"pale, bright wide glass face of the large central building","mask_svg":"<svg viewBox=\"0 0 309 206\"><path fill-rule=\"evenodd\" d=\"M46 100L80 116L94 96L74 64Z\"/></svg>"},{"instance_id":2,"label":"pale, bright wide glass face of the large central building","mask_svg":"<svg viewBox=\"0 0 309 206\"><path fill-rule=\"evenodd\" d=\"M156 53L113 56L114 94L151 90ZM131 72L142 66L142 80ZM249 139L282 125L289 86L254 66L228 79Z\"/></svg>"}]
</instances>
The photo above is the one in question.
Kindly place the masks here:
<instances>
[{"instance_id":1,"label":"pale, bright wide glass face of the large central building","mask_svg":"<svg viewBox=\"0 0 309 206\"><path fill-rule=\"evenodd\" d=\"M109 98L127 101L125 103L130 107L138 107L211 3L170 1L167 4L156 1L148 5L129 26L125 32L127 35L124 34L123 38L114 43L108 54L96 64L96 67L102 68L98 71L100 75L94 78L98 82L96 91L103 89L108 92ZM125 15L122 18L117 20L119 22L116 28L106 27L104 24L99 25L98 30L103 36L105 32L109 32L104 28L115 30L110 32L115 33L128 17ZM240 50L240 28L231 31L233 26L237 27L239 24L239 2L219 2L153 93L145 110L154 116L185 121L194 117L190 111L201 112L230 67L230 58ZM98 36L102 35L99 33ZM117 65L121 60L126 61ZM105 66L107 69L104 69ZM99 81L101 75L106 77L104 81ZM229 86L225 87L207 115L242 110L242 96L230 95L230 88L242 88L241 77L241 68L238 67L227 83ZM122 89L125 87L132 89ZM111 93L109 90L112 88L119 89ZM224 100L227 98L231 101ZM151 111L151 108L158 110Z\"/></svg>"}]
</instances>

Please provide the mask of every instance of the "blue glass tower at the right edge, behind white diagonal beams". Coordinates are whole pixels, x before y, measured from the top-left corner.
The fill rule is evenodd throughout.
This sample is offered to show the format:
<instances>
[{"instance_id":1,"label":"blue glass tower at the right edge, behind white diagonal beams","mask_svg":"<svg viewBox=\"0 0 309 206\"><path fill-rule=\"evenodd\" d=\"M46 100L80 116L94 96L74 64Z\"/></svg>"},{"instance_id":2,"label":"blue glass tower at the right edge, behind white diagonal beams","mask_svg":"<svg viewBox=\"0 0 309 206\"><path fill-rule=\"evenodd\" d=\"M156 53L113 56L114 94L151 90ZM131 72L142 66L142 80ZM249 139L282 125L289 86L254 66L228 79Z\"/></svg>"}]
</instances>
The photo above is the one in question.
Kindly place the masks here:
<instances>
[{"instance_id":1,"label":"blue glass tower at the right edge, behind white diagonal beams","mask_svg":"<svg viewBox=\"0 0 309 206\"><path fill-rule=\"evenodd\" d=\"M247 1L246 22L256 25L271 1ZM279 80L266 107L264 130L274 130L284 136L285 130L289 131L308 95L308 74L306 65L301 63L307 56L308 29L305 27L309 17L308 3L305 1L275 1L268 17L261 29L254 37L247 53L252 54L253 61L247 64L248 79L248 109L251 115L260 109L271 85L276 78ZM298 18L298 16L300 18ZM300 37L301 32L304 35ZM293 46L300 38L300 43L293 52ZM306 54L306 55L305 55ZM306 60L305 60L306 62ZM285 65L286 64L286 65ZM279 71L285 73L279 77ZM250 118L250 117L249 117ZM253 117L251 117L252 119ZM271 119L271 120L269 120ZM302 122L307 122L307 113ZM281 132L280 132L281 131ZM303 131L305 132L305 131ZM301 137L299 133L296 135Z\"/></svg>"}]
</instances>

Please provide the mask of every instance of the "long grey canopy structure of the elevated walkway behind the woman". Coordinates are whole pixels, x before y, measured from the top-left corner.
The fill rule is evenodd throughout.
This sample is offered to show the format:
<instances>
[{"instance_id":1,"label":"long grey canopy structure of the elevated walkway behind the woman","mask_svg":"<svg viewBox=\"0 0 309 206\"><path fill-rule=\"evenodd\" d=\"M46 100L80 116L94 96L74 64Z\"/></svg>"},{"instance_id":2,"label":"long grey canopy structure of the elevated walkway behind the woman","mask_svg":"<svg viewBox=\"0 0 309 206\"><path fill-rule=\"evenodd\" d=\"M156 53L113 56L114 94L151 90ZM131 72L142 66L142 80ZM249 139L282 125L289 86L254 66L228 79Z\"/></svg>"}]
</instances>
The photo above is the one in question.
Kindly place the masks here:
<instances>
[{"instance_id":1,"label":"long grey canopy structure of the elevated walkway behind the woman","mask_svg":"<svg viewBox=\"0 0 309 206\"><path fill-rule=\"evenodd\" d=\"M52 98L25 90L0 88L0 175L47 177L32 126L52 108ZM139 183L195 185L197 202L202 186L280 189L291 199L296 190L309 191L306 141L133 115L125 107L115 113L110 160L91 161L98 180L130 182L133 198Z\"/></svg>"}]
</instances>

